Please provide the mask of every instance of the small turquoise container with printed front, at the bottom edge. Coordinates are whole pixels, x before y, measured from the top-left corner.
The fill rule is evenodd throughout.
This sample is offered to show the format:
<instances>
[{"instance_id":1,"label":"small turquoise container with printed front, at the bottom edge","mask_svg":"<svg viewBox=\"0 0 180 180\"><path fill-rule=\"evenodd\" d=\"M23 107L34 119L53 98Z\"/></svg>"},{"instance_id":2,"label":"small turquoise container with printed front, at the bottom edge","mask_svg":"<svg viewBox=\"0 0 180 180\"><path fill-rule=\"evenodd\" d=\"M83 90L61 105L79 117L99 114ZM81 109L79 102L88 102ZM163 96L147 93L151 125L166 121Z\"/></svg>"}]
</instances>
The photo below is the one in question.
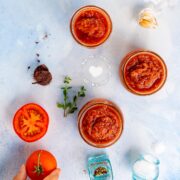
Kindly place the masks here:
<instances>
[{"instance_id":1,"label":"small turquoise container with printed front, at the bottom edge","mask_svg":"<svg viewBox=\"0 0 180 180\"><path fill-rule=\"evenodd\" d=\"M98 169L103 169L104 173L97 173ZM106 154L89 157L88 172L90 180L113 180L111 162Z\"/></svg>"}]
</instances>

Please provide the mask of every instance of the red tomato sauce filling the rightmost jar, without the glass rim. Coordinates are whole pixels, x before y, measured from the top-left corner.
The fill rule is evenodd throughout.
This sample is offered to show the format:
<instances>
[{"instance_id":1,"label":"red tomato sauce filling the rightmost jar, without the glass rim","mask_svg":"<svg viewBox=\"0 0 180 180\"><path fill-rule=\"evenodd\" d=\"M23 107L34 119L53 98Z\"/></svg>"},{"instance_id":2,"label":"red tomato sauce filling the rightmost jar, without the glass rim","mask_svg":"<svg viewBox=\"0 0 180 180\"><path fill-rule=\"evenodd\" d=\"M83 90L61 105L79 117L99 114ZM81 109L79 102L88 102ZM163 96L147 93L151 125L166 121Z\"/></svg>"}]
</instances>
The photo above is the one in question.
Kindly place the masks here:
<instances>
[{"instance_id":1,"label":"red tomato sauce filling the rightmost jar, without the glass rim","mask_svg":"<svg viewBox=\"0 0 180 180\"><path fill-rule=\"evenodd\" d=\"M139 54L129 60L124 69L125 82L132 89L145 92L161 86L165 79L164 64L151 54Z\"/></svg>"}]
</instances>

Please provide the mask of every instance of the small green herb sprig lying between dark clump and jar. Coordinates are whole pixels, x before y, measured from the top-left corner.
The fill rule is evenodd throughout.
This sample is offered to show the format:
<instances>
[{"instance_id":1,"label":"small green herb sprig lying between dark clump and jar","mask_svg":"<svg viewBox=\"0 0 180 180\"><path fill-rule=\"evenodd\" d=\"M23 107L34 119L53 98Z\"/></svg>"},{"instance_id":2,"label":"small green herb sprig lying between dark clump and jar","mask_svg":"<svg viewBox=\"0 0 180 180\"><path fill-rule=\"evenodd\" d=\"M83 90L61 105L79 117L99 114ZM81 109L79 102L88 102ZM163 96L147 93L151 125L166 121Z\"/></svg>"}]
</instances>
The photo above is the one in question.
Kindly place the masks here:
<instances>
[{"instance_id":1,"label":"small green herb sprig lying between dark clump and jar","mask_svg":"<svg viewBox=\"0 0 180 180\"><path fill-rule=\"evenodd\" d=\"M64 78L64 86L61 88L63 91L64 96L64 102L63 103L57 103L57 107L64 110L64 117L67 117L68 114L74 113L78 107L77 107L77 100L80 97L85 97L86 89L84 86L80 87L80 90L77 92L76 95L74 95L72 101L69 101L69 91L72 89L70 86L72 79L68 76Z\"/></svg>"}]
</instances>

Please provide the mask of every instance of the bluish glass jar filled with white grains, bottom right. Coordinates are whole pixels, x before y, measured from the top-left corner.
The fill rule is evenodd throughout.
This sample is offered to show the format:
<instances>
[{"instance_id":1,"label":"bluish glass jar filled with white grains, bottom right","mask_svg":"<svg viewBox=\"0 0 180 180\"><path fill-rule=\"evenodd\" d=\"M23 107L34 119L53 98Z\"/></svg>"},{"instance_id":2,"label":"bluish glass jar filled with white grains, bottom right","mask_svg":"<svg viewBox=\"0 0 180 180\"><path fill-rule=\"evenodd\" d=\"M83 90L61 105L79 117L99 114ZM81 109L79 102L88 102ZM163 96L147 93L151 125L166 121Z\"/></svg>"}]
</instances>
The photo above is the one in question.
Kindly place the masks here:
<instances>
[{"instance_id":1,"label":"bluish glass jar filled with white grains, bottom right","mask_svg":"<svg viewBox=\"0 0 180 180\"><path fill-rule=\"evenodd\" d=\"M133 165L133 180L157 180L160 161L151 154L142 155Z\"/></svg>"}]
</instances>

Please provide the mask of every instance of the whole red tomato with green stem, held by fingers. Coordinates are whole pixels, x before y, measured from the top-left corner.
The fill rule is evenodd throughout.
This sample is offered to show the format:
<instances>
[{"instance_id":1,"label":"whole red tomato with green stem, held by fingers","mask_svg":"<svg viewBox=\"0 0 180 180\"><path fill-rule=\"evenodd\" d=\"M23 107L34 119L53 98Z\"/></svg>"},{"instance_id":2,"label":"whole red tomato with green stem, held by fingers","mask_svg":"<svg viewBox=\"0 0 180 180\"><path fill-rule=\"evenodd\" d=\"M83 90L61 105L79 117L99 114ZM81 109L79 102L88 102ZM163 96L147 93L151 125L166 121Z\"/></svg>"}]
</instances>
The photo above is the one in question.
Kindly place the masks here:
<instances>
[{"instance_id":1,"label":"whole red tomato with green stem, held by fingers","mask_svg":"<svg viewBox=\"0 0 180 180\"><path fill-rule=\"evenodd\" d=\"M43 180L56 168L55 157L45 150L33 152L26 161L27 175L32 180Z\"/></svg>"}]
</instances>

